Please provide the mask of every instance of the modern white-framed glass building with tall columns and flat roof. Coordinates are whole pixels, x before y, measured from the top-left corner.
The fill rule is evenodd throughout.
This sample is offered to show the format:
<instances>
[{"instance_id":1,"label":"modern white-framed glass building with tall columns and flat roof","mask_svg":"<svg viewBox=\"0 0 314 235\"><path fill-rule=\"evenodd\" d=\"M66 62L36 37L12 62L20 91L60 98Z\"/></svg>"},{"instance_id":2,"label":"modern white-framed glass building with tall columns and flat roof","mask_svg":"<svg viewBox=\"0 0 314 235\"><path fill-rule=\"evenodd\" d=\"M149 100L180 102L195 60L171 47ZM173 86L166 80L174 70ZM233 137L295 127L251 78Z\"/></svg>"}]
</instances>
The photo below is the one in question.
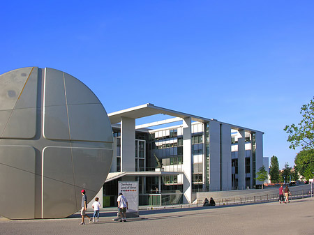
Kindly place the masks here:
<instances>
[{"instance_id":1,"label":"modern white-framed glass building with tall columns and flat roof","mask_svg":"<svg viewBox=\"0 0 314 235\"><path fill-rule=\"evenodd\" d=\"M170 116L136 125L137 119ZM114 136L103 205L114 206L118 181L138 181L140 205L193 203L196 192L260 188L263 132L152 104L108 114Z\"/></svg>"}]
</instances>

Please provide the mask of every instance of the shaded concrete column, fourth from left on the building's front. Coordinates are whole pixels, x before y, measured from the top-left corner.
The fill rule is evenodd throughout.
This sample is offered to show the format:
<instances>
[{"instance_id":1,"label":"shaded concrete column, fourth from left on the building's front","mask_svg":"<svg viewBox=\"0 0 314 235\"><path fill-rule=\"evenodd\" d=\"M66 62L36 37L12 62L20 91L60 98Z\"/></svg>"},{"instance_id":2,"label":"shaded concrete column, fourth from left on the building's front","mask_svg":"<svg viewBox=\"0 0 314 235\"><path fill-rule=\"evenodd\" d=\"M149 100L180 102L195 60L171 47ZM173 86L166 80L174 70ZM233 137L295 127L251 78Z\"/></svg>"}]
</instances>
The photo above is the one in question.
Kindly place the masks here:
<instances>
[{"instance_id":1,"label":"shaded concrete column, fourth from left on the building's front","mask_svg":"<svg viewBox=\"0 0 314 235\"><path fill-rule=\"evenodd\" d=\"M222 190L232 189L231 171L231 128L228 124L221 126L221 185Z\"/></svg>"}]
</instances>

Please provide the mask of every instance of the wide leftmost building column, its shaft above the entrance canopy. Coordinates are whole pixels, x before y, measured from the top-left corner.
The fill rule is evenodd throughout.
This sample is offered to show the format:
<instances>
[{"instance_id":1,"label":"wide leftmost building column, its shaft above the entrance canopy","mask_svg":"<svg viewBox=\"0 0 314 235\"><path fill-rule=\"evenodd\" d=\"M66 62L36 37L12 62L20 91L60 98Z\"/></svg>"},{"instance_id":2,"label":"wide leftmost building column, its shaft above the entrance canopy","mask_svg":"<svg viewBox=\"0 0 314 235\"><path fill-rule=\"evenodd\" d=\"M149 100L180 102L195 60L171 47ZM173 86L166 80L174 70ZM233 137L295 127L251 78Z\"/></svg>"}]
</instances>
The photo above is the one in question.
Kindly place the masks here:
<instances>
[{"instance_id":1,"label":"wide leftmost building column, its shaft above the entrance canopy","mask_svg":"<svg viewBox=\"0 0 314 235\"><path fill-rule=\"evenodd\" d=\"M121 172L135 172L135 119L121 118Z\"/></svg>"}]
</instances>

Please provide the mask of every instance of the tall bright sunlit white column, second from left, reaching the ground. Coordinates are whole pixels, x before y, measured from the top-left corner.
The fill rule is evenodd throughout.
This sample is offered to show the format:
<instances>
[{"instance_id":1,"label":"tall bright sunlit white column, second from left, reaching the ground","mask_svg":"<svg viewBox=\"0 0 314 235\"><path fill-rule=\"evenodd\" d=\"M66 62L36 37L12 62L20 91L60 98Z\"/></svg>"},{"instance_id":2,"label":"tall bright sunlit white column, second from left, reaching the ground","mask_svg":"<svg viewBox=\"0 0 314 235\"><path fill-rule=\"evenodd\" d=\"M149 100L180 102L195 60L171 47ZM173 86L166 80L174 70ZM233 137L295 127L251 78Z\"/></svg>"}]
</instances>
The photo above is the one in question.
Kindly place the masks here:
<instances>
[{"instance_id":1,"label":"tall bright sunlit white column, second from left, reaching the ground","mask_svg":"<svg viewBox=\"0 0 314 235\"><path fill-rule=\"evenodd\" d=\"M183 119L184 203L192 203L191 119Z\"/></svg>"}]
</instances>

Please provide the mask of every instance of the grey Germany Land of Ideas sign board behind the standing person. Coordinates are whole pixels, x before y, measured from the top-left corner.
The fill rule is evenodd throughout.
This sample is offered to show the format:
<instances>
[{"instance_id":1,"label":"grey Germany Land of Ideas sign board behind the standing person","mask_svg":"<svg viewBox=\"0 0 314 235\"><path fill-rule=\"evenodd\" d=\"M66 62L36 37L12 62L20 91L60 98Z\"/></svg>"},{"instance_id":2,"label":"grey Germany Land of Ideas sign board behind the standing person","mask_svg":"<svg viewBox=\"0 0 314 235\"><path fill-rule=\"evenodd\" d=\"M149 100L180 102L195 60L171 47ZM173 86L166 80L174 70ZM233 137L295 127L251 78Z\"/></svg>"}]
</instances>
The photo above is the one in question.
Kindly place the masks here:
<instances>
[{"instance_id":1,"label":"grey Germany Land of Ideas sign board behind the standing person","mask_svg":"<svg viewBox=\"0 0 314 235\"><path fill-rule=\"evenodd\" d=\"M128 200L127 217L138 217L138 181L118 181L118 195L122 192Z\"/></svg>"}]
</instances>

